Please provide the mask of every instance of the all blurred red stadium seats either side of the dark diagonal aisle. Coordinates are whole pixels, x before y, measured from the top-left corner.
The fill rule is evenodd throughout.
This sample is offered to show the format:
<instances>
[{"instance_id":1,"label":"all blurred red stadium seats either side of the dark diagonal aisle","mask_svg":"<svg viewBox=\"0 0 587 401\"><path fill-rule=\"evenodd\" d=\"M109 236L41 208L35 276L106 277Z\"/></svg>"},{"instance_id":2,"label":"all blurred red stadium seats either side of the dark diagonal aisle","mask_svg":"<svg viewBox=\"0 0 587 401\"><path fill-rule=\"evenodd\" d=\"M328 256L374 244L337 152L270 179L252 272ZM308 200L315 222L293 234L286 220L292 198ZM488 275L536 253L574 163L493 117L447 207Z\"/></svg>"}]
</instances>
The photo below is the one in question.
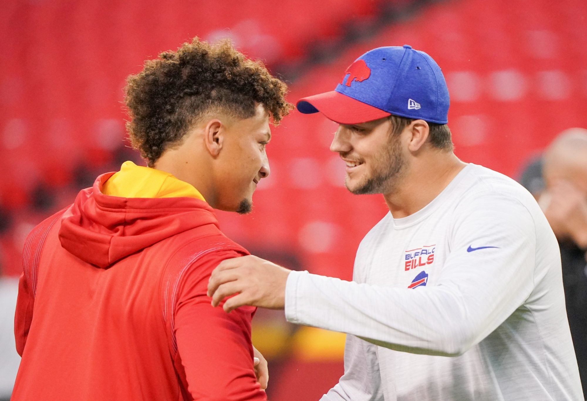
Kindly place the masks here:
<instances>
[{"instance_id":1,"label":"all blurred red stadium seats either side of the dark diagonal aisle","mask_svg":"<svg viewBox=\"0 0 587 401\"><path fill-rule=\"evenodd\" d=\"M262 32L278 38L285 49L280 57L292 58L299 56L304 40L340 34L341 21L357 10L376 12L369 1L304 2L307 12L296 22L293 15L274 16L269 2L264 8L242 3L238 12L222 9L222 24L236 26L241 15L251 16L262 22ZM120 101L126 74L158 50L221 26L212 20L223 2L210 2L213 11L198 8L197 28L180 18L185 4L12 6L14 18L2 23L15 38L0 45L3 54L11 55L1 61L6 73L0 87L0 196L2 205L16 213L14 229L2 236L6 273L18 273L15 244L43 215L23 212L36 183L56 189L53 209L65 206L75 195L69 183L79 174L76 165L83 161L82 170L93 172L112 161L112 151L124 143ZM294 2L284 4L281 15L288 15ZM430 53L446 74L457 155L512 176L556 133L587 126L587 28L579 19L586 7L582 0L433 5L367 42L341 49L328 65L313 67L291 85L289 98L332 90L350 61L372 47L407 43ZM294 33L308 36L291 40ZM379 196L346 192L342 162L328 151L335 128L321 115L286 117L268 148L272 175L259 185L255 213L219 213L227 234L253 249L295 254L304 269L350 278L360 239L386 208Z\"/></svg>"}]
</instances>

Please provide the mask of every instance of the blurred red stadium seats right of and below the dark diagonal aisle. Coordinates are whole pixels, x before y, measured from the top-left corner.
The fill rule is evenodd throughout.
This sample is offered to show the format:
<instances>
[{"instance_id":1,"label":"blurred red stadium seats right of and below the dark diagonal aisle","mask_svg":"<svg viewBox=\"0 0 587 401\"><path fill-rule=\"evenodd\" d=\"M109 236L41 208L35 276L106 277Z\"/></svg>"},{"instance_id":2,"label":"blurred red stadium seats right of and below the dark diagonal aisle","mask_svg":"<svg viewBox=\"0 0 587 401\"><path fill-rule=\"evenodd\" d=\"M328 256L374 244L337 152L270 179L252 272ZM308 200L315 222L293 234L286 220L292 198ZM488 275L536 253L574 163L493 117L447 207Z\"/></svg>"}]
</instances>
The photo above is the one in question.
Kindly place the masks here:
<instances>
[{"instance_id":1,"label":"blurred red stadium seats right of and below the dark diagonal aisle","mask_svg":"<svg viewBox=\"0 0 587 401\"><path fill-rule=\"evenodd\" d=\"M332 90L350 61L373 47L426 49L447 77L457 155L515 176L558 132L587 127L587 24L579 17L586 8L581 0L432 6L308 72L290 98ZM360 239L386 208L379 196L342 187L342 162L328 150L334 130L321 115L284 120L269 149L275 184L259 191L257 213L242 228L299 247L302 266L316 273L349 278ZM275 206L288 199L286 212ZM225 226L238 219L226 216Z\"/></svg>"}]
</instances>

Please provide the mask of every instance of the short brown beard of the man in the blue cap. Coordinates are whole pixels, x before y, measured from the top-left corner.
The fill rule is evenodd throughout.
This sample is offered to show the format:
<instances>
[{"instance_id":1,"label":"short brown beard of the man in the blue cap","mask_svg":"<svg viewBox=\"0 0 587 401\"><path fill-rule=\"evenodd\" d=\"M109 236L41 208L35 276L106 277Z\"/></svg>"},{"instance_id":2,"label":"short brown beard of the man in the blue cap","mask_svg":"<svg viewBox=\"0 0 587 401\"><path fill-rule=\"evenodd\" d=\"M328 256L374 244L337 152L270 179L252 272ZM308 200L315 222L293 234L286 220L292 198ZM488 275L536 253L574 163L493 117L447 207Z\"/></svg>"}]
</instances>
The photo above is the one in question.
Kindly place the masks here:
<instances>
[{"instance_id":1,"label":"short brown beard of the man in the blue cap","mask_svg":"<svg viewBox=\"0 0 587 401\"><path fill-rule=\"evenodd\" d=\"M345 180L346 189L355 195L393 192L406 166L406 159L400 147L400 137L390 134L389 146L375 158L371 165L371 176L355 188L349 188L349 183Z\"/></svg>"}]
</instances>

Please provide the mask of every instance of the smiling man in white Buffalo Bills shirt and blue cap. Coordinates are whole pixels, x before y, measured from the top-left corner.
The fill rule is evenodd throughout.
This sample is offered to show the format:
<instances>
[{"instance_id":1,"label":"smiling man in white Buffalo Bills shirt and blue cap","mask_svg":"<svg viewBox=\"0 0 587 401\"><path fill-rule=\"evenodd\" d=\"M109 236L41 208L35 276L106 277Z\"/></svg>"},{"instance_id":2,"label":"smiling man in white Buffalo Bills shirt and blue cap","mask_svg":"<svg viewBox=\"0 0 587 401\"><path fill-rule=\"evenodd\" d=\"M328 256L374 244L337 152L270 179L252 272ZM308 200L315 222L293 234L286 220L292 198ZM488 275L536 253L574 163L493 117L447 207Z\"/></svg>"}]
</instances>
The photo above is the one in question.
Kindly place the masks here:
<instances>
[{"instance_id":1,"label":"smiling man in white Buffalo Bills shirt and blue cap","mask_svg":"<svg viewBox=\"0 0 587 401\"><path fill-rule=\"evenodd\" d=\"M440 68L380 47L335 91L298 101L339 123L330 146L353 193L390 213L361 242L353 281L246 256L212 273L212 305L285 308L288 321L348 333L345 375L322 397L583 400L556 238L507 176L461 162Z\"/></svg>"}]
</instances>

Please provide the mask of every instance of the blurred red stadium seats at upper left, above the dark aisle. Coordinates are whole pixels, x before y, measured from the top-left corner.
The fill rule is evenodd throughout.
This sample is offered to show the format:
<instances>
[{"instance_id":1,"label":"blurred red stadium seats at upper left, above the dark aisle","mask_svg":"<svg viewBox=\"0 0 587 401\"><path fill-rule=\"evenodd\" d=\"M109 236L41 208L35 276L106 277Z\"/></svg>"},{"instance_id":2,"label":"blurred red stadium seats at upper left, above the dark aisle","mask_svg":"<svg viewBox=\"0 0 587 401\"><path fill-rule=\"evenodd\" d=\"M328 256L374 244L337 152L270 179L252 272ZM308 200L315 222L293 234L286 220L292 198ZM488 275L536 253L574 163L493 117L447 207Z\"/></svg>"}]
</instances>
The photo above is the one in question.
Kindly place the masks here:
<instances>
[{"instance_id":1,"label":"blurred red stadium seats at upper left, above the dark aisle","mask_svg":"<svg viewBox=\"0 0 587 401\"><path fill-rule=\"evenodd\" d=\"M65 183L73 164L102 164L123 137L127 74L191 36L231 38L269 64L295 60L315 38L375 12L375 2L8 1L0 26L2 178L9 205L40 179ZM59 163L55 163L59 161ZM13 188L15 187L15 188ZM18 196L17 196L18 195Z\"/></svg>"}]
</instances>

